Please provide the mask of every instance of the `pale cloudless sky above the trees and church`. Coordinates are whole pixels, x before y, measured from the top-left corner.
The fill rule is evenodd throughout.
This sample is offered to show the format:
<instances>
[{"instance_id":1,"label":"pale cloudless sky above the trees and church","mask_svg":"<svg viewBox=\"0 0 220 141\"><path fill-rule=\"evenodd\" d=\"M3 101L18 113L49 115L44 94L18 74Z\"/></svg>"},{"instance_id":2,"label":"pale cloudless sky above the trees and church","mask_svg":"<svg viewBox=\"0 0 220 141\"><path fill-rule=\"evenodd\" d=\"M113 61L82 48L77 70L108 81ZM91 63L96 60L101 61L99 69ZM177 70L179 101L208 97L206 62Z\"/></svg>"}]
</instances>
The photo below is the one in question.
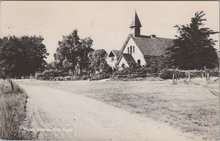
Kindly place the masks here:
<instances>
[{"instance_id":1,"label":"pale cloudless sky above the trees and church","mask_svg":"<svg viewBox=\"0 0 220 141\"><path fill-rule=\"evenodd\" d=\"M219 31L218 1L3 1L0 3L0 37L41 35L50 55L62 35L78 30L80 38L91 37L94 49L120 50L135 10L141 34L174 39L175 25L188 24L197 11L206 13L205 26ZM212 38L219 40L219 35ZM219 42L215 46L219 48Z\"/></svg>"}]
</instances>

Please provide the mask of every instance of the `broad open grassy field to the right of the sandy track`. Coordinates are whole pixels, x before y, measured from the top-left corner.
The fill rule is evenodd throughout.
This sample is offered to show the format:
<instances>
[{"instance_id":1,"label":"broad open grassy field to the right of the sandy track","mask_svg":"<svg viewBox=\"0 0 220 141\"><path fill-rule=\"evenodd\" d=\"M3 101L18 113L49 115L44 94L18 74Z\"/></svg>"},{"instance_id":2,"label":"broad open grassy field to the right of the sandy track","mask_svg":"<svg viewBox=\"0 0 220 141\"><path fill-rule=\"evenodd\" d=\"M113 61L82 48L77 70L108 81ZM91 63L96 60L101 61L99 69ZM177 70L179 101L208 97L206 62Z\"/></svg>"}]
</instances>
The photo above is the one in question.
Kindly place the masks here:
<instances>
[{"instance_id":1,"label":"broad open grassy field to the right of the sandy track","mask_svg":"<svg viewBox=\"0 0 220 141\"><path fill-rule=\"evenodd\" d=\"M218 137L219 81L206 84L166 81L21 80L19 83L52 87L103 101L129 112L169 124L183 133L215 141Z\"/></svg>"}]
</instances>

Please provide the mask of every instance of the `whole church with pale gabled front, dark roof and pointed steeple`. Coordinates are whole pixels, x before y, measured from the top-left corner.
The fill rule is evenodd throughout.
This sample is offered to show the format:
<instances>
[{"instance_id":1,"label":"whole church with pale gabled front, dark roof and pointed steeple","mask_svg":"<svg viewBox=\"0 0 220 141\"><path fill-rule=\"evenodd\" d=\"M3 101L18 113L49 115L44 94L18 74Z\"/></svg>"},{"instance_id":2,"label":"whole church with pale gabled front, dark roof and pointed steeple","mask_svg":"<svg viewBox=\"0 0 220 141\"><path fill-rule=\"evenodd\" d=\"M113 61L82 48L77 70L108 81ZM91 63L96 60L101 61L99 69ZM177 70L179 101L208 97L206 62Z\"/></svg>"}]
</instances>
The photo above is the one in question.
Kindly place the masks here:
<instances>
[{"instance_id":1,"label":"whole church with pale gabled front, dark roof and pointed steeple","mask_svg":"<svg viewBox=\"0 0 220 141\"><path fill-rule=\"evenodd\" d=\"M161 64L161 57L165 54L166 48L173 46L173 40L156 35L141 35L141 27L135 11L130 25L131 33L127 36L121 50L112 50L108 54L106 61L109 66L121 69L134 63L148 67Z\"/></svg>"}]
</instances>

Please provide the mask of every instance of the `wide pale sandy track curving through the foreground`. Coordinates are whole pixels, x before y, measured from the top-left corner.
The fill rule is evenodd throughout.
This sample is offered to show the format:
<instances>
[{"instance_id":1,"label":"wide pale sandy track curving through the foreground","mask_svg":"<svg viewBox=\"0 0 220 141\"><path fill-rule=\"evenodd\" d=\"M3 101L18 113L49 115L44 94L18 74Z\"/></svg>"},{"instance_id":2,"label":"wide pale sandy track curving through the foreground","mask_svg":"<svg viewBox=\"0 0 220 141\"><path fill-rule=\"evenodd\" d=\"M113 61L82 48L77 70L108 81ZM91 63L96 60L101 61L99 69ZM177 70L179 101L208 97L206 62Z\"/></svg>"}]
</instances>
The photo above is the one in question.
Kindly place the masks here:
<instances>
[{"instance_id":1,"label":"wide pale sandy track curving through the foreground","mask_svg":"<svg viewBox=\"0 0 220 141\"><path fill-rule=\"evenodd\" d=\"M28 93L28 130L39 139L95 141L191 141L163 123L90 99L46 87L21 84Z\"/></svg>"}]
</instances>

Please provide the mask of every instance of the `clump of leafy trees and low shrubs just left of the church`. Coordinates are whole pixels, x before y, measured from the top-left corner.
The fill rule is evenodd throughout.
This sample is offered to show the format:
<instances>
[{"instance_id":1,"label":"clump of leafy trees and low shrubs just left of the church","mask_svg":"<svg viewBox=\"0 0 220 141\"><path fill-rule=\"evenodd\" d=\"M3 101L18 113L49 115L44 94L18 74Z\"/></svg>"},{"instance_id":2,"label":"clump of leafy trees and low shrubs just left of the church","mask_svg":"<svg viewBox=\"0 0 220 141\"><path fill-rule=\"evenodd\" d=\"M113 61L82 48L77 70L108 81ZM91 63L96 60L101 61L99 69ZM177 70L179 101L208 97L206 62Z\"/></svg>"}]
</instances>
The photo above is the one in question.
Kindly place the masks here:
<instances>
[{"instance_id":1,"label":"clump of leafy trees and low shrubs just left of the church","mask_svg":"<svg viewBox=\"0 0 220 141\"><path fill-rule=\"evenodd\" d=\"M99 80L110 76L112 70L106 62L104 49L92 49L91 38L80 39L78 31L63 36L54 54L54 62L48 63L45 70L36 73L43 80Z\"/></svg>"}]
</instances>

